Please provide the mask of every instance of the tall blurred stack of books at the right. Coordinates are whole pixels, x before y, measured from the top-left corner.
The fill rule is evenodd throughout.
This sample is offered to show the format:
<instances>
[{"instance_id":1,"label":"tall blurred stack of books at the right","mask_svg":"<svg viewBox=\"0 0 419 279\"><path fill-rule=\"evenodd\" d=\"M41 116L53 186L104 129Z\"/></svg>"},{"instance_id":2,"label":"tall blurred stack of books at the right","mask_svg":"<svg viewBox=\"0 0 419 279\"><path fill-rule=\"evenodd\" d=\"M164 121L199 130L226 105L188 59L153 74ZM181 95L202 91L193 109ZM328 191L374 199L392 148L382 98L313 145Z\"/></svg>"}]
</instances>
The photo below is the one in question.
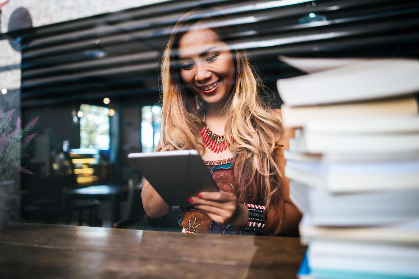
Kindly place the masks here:
<instances>
[{"instance_id":1,"label":"tall blurred stack of books at the right","mask_svg":"<svg viewBox=\"0 0 419 279\"><path fill-rule=\"evenodd\" d=\"M419 278L419 61L280 59L300 278Z\"/></svg>"}]
</instances>

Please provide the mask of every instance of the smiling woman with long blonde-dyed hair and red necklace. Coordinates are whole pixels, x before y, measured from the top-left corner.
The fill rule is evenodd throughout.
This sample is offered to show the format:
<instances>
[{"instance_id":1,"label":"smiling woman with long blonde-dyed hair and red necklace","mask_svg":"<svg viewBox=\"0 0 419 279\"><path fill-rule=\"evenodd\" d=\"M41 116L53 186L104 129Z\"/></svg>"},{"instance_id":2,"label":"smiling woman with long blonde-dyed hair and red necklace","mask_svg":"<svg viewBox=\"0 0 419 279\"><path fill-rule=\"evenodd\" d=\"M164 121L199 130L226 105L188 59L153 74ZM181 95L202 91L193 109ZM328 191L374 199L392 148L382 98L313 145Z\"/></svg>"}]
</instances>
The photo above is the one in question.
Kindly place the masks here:
<instances>
[{"instance_id":1,"label":"smiling woman with long blonde-dyed hair and red necklace","mask_svg":"<svg viewBox=\"0 0 419 279\"><path fill-rule=\"evenodd\" d=\"M196 8L177 21L163 55L157 151L198 150L221 192L191 197L178 223L186 233L296 230L301 215L283 175L289 135L280 110L262 100L264 87L235 32L223 24L227 16L204 11ZM142 200L151 218L171 210L148 182Z\"/></svg>"}]
</instances>

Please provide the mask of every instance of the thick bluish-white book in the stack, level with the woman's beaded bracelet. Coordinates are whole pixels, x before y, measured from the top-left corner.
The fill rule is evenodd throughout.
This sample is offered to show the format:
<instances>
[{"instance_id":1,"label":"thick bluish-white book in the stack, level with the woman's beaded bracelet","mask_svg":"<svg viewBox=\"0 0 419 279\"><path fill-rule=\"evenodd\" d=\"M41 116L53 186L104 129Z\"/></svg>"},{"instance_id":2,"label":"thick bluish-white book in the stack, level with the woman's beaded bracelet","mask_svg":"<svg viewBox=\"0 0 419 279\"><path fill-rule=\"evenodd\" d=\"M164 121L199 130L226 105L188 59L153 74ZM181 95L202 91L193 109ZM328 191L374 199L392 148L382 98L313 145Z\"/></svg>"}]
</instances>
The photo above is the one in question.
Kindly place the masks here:
<instances>
[{"instance_id":1,"label":"thick bluish-white book in the stack, level with the woman's beaded bracelet","mask_svg":"<svg viewBox=\"0 0 419 279\"><path fill-rule=\"evenodd\" d=\"M335 194L290 179L290 197L304 215L320 226L372 226L419 216L419 187Z\"/></svg>"}]
</instances>

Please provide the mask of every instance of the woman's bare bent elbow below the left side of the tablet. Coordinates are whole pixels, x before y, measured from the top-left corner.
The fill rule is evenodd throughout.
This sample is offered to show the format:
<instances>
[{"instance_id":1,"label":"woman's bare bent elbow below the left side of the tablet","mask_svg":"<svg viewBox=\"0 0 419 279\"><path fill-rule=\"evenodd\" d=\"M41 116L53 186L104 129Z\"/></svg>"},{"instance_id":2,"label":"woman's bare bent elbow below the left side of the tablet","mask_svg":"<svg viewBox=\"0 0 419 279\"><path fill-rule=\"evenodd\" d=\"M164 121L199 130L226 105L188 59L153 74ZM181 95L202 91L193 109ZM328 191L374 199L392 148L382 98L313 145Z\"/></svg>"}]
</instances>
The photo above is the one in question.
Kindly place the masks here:
<instances>
[{"instance_id":1,"label":"woman's bare bent elbow below the left side of the tablet","mask_svg":"<svg viewBox=\"0 0 419 279\"><path fill-rule=\"evenodd\" d=\"M172 209L172 206L160 197L147 180L141 190L141 199L144 211L150 218L162 217Z\"/></svg>"}]
</instances>

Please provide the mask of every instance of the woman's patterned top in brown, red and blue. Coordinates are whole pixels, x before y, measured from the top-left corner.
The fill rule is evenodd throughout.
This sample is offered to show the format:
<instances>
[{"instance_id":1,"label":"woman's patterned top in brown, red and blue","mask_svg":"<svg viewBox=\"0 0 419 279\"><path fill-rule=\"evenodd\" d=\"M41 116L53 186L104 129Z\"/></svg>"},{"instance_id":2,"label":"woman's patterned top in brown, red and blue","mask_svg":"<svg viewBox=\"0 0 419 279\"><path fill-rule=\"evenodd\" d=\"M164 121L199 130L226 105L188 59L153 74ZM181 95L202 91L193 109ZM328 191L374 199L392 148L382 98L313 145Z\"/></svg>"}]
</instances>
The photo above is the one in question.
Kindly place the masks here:
<instances>
[{"instance_id":1,"label":"woman's patterned top in brown, red and blue","mask_svg":"<svg viewBox=\"0 0 419 279\"><path fill-rule=\"evenodd\" d=\"M204 161L212 179L221 191L234 193L233 171L231 170L233 160L234 156L217 161ZM178 217L178 224L183 227L182 233L254 234L232 225L219 225L204 211L195 207L181 207L181 210L182 214Z\"/></svg>"}]
</instances>

